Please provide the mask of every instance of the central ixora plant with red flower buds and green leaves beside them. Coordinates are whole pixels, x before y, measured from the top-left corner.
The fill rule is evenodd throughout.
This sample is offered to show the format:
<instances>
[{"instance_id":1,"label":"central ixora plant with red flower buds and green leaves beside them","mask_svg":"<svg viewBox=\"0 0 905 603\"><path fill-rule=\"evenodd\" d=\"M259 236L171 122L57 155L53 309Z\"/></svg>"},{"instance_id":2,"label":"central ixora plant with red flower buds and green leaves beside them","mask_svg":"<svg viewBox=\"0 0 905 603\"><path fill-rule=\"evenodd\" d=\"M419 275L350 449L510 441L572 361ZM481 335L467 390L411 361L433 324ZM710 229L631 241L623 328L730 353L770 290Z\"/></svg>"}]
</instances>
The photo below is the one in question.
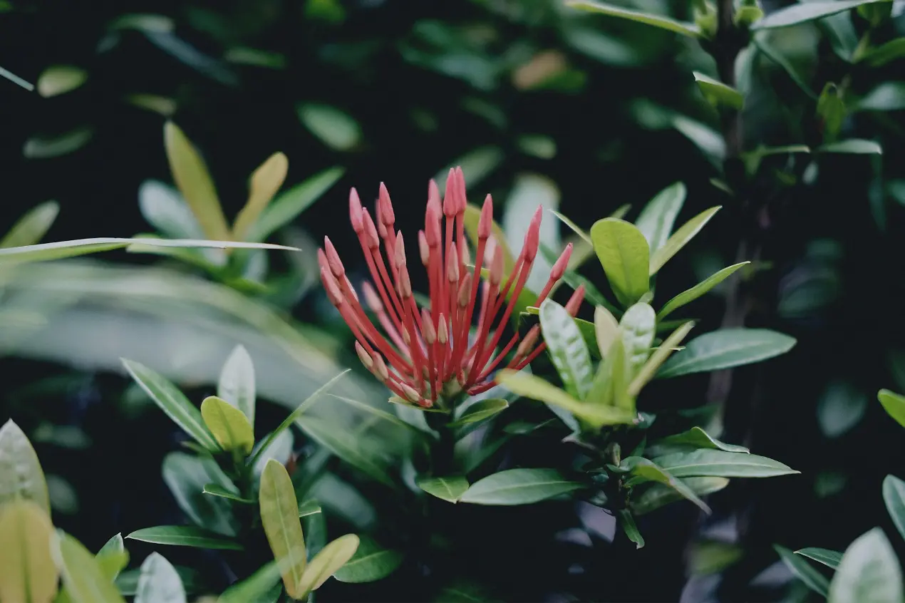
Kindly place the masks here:
<instances>
[{"instance_id":1,"label":"central ixora plant with red flower buds and green leaves beside them","mask_svg":"<svg viewBox=\"0 0 905 603\"><path fill-rule=\"evenodd\" d=\"M675 326L663 318L745 264L713 274L663 304L659 312L653 309L653 276L719 209L695 216L672 233L684 197L684 187L673 185L643 209L637 225L604 218L589 235L560 216L576 231L581 248L576 254L573 244L558 255L546 250L553 267L547 284L535 293L525 283L540 248L540 210L521 252L513 256L493 222L491 197L481 209L468 205L462 171L452 169L443 200L433 182L428 189L418 248L430 297L419 310L404 238L395 232L386 187L380 187L376 219L362 208L357 192L351 191L352 226L374 281L363 285L361 297L386 335L359 302L329 239L319 254L321 279L330 301L357 338L359 358L395 394L390 401L397 410L405 416L411 416L405 409L424 411L424 429L433 435L434 444L432 463L415 479L421 489L451 503L478 504L536 503L572 493L617 514L625 533L640 547L643 538L633 514L681 498L706 511L700 497L725 487L729 477L797 473L785 464L751 455L743 446L720 442L700 426L647 441L649 433L654 433L655 417L639 413L635 400L653 378L768 359L795 344L792 338L769 330L720 330L692 340L670 358L693 323L681 321ZM473 264L469 242L474 246ZM575 266L594 252L618 305L607 302L592 283L569 268L570 261ZM560 279L576 285L565 306L548 299ZM586 298L596 303L594 323L576 318ZM536 315L539 324L529 325ZM504 336L508 324L513 332ZM664 340L658 339L658 331L668 332ZM564 389L527 372L529 363L545 350ZM599 358L596 366L594 357ZM576 466L519 467L470 483L469 472L462 472L468 463L457 462L455 450L461 449L460 440L474 429L492 421L506 422L513 413L503 411L521 406L489 397L503 390L546 403L559 416L565 428L560 439L581 450ZM525 405L530 406L527 401ZM538 421L540 425L516 426L517 422L513 418L507 431L528 433L548 426L549 417Z\"/></svg>"}]
</instances>

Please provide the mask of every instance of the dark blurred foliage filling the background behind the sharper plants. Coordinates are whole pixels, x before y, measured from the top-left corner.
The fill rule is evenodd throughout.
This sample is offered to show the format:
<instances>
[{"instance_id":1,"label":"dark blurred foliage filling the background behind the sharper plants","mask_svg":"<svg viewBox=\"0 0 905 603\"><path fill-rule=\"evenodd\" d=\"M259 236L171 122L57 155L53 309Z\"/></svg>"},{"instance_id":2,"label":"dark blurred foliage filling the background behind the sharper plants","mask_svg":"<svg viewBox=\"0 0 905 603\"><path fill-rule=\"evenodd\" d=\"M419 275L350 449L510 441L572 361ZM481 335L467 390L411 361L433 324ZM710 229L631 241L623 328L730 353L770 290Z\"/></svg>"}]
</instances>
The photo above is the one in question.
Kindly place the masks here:
<instances>
[{"instance_id":1,"label":"dark blurred foliage filling the background behind the sharper plants","mask_svg":"<svg viewBox=\"0 0 905 603\"><path fill-rule=\"evenodd\" d=\"M901 4L872 43L905 34ZM633 6L691 19L685 3ZM863 29L843 13L771 31L738 63L747 150L819 144L815 101L827 82L844 90L842 138L883 149L746 159L760 167L754 195L771 207L761 257L740 258L755 261L748 286L758 305L748 326L789 333L798 345L737 371L738 387L756 384L757 395L728 410L723 439L802 475L733 483L713 497L717 513L706 523L691 505L645 517L643 531L656 537L637 552L606 545L612 525L586 509L459 509L450 522L471 552L462 566L501 588L500 598L777 600L790 574L774 543L843 550L884 516L881 479L900 469L903 445L872 400L881 387L905 390L905 84L896 79L905 59L853 63ZM691 76L716 77L710 56L690 38L555 0L0 2L0 64L35 83L29 92L0 80L0 230L53 199L59 216L47 241L168 235L149 209L177 195L167 119L204 155L228 216L243 206L248 176L276 151L289 158L283 191L332 170L323 194L270 237L303 254L249 254L241 274L121 252L0 271L0 416L33 438L57 524L90 549L178 513L160 479L176 428L123 378L119 357L155 367L200 399L242 343L260 397L275 403L260 407L264 425L357 365L348 330L313 286L323 235L348 250L353 280L366 269L352 259L360 256L349 187L371 200L386 182L411 236L423 224L428 178L462 165L472 203L492 193L498 220L519 240L526 208L543 204L588 227L624 204L636 215L681 180L689 196L680 221L709 206L724 210L685 262L658 279L669 294L738 261L745 235L745 208L714 182L725 150L718 117ZM570 235L551 215L545 229L551 246ZM593 270L586 276L603 282ZM701 332L718 327L720 295L698 303ZM661 406L707 399L704 377L652 389L669 397ZM386 397L367 374L336 393L372 405ZM364 420L334 402L317 412L336 429ZM312 449L297 444L301 456ZM339 521L374 522L371 503L391 500L357 498L354 472L335 460L322 503L332 497ZM373 486L361 487L371 498ZM424 578L395 575L357 591L328 584L319 596L424 600ZM199 579L222 588L230 577L211 560ZM788 596L804 600L796 589Z\"/></svg>"}]
</instances>

